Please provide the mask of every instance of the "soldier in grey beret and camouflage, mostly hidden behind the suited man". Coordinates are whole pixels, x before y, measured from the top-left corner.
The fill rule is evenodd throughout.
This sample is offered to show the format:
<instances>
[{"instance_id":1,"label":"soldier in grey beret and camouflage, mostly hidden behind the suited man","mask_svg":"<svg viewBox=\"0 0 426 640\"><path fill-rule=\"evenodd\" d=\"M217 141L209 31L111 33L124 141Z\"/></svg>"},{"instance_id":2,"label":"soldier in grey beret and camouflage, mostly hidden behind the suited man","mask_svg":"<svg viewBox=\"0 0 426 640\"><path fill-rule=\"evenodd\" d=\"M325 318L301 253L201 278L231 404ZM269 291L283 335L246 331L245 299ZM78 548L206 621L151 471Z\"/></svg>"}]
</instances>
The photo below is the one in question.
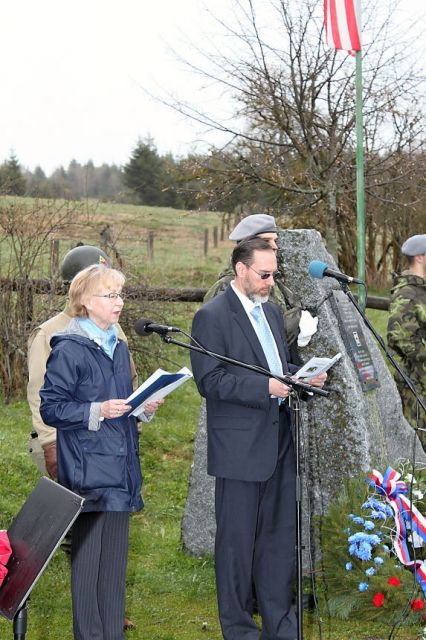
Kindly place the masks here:
<instances>
[{"instance_id":1,"label":"soldier in grey beret and camouflage, mostly hidden behind the suited man","mask_svg":"<svg viewBox=\"0 0 426 640\"><path fill-rule=\"evenodd\" d=\"M254 214L243 218L229 236L230 240L241 242L252 237L264 238L269 242L274 251L278 250L276 243L277 227L275 218L266 214ZM229 263L226 271L219 275L219 279L210 287L204 296L204 302L225 291L231 280L235 278L235 273ZM269 296L269 301L281 307L284 319L286 338L290 351L291 362L301 364L301 359L297 350L297 337L299 335L299 323L302 313L302 306L299 300L284 284L284 276L278 271L274 277L275 286Z\"/></svg>"}]
</instances>

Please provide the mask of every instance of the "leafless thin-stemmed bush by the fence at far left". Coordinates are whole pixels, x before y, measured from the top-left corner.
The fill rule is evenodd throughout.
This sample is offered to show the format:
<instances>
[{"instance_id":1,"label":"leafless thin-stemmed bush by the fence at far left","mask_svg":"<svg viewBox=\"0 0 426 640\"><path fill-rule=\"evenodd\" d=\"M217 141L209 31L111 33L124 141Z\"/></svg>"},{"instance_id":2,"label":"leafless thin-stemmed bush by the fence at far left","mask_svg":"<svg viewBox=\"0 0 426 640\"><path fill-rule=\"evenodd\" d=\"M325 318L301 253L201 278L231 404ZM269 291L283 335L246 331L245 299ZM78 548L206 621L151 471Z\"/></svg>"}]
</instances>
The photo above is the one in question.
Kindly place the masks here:
<instances>
[{"instance_id":1,"label":"leafless thin-stemmed bush by the fence at far left","mask_svg":"<svg viewBox=\"0 0 426 640\"><path fill-rule=\"evenodd\" d=\"M49 275L50 241L76 226L85 228L90 217L83 203L4 197L0 202L0 383L6 402L25 389L28 333L38 314L46 319L49 304L56 302L47 295L36 308L32 278Z\"/></svg>"}]
</instances>

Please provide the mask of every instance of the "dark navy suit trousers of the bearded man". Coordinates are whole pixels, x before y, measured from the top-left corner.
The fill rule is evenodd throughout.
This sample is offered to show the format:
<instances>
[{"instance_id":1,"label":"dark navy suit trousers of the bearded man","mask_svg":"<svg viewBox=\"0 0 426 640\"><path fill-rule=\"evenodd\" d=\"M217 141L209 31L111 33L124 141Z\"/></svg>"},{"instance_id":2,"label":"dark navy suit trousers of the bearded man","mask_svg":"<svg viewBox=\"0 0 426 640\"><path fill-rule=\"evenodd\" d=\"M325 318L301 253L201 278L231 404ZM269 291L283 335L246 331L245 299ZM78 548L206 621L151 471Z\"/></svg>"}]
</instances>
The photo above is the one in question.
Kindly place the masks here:
<instances>
[{"instance_id":1,"label":"dark navy suit trousers of the bearded man","mask_svg":"<svg viewBox=\"0 0 426 640\"><path fill-rule=\"evenodd\" d=\"M280 412L278 461L265 482L216 478L215 541L219 618L225 640L294 640L295 456L287 416Z\"/></svg>"}]
</instances>

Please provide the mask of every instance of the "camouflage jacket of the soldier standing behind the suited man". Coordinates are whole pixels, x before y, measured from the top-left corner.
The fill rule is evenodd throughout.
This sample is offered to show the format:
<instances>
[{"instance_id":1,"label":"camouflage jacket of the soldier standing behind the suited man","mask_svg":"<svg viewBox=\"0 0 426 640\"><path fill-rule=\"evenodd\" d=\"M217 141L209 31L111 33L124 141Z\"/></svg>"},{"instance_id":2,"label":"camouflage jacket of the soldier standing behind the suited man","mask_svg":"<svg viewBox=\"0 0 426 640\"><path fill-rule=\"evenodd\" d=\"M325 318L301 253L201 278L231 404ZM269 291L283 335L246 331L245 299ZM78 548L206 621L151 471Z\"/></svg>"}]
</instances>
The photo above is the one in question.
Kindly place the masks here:
<instances>
[{"instance_id":1,"label":"camouflage jacket of the soldier standing behind the suited man","mask_svg":"<svg viewBox=\"0 0 426 640\"><path fill-rule=\"evenodd\" d=\"M217 280L207 291L204 296L204 302L207 302L211 298L217 296L218 293L225 291L231 280L235 278L235 274L232 267L229 266L226 271L219 275ZM281 311L285 318L285 330L288 346L297 346L297 336L299 335L299 322L302 311L302 306L299 300L296 299L294 294L284 284L284 278L282 274L278 272L275 277L275 287L272 289L272 293L269 296L270 302L274 302L281 307ZM292 361L293 362L293 361ZM294 364L298 364L295 362Z\"/></svg>"}]
</instances>

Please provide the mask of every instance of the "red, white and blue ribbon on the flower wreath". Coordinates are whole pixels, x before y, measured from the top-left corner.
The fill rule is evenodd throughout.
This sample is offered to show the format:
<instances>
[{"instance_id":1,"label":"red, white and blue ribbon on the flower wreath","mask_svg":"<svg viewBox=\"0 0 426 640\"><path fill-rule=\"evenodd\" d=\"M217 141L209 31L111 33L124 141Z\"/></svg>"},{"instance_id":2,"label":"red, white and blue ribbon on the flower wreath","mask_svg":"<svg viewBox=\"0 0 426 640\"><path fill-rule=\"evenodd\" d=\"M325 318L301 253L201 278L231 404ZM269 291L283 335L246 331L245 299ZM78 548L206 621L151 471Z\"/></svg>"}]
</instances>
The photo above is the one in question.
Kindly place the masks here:
<instances>
[{"instance_id":1,"label":"red, white and blue ribbon on the flower wreath","mask_svg":"<svg viewBox=\"0 0 426 640\"><path fill-rule=\"evenodd\" d=\"M407 499L408 486L400 480L401 474L388 467L385 474L373 470L371 485L385 497L395 518L393 548L399 561L413 571L416 580L426 596L426 561L411 560L407 545L407 528L426 541L426 519L410 500Z\"/></svg>"}]
</instances>

